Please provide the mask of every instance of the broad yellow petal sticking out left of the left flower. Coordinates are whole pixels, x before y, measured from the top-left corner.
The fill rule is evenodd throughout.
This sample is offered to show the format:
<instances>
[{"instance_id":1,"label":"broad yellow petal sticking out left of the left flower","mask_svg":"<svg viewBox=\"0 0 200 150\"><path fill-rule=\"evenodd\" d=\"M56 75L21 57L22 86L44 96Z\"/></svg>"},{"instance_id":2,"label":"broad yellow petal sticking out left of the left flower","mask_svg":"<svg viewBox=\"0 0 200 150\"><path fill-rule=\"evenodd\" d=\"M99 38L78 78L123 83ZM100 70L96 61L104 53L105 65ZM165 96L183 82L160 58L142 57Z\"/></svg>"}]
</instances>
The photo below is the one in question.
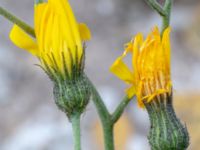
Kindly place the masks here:
<instances>
[{"instance_id":1,"label":"broad yellow petal sticking out left of the left flower","mask_svg":"<svg viewBox=\"0 0 200 150\"><path fill-rule=\"evenodd\" d=\"M17 25L13 26L10 32L10 39L19 48L25 49L32 55L38 56L38 46L36 42Z\"/></svg>"}]
</instances>

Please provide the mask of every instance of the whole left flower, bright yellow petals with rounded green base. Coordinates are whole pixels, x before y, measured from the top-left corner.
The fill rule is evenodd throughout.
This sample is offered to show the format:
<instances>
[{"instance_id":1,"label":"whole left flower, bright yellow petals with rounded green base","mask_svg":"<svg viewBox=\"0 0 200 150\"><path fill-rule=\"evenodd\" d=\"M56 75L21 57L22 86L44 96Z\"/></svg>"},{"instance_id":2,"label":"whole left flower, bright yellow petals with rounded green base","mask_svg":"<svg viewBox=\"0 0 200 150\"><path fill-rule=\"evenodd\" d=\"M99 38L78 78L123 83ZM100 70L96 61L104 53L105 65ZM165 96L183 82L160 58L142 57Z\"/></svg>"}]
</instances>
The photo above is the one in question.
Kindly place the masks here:
<instances>
[{"instance_id":1,"label":"whole left flower, bright yellow petals with rounded green base","mask_svg":"<svg viewBox=\"0 0 200 150\"><path fill-rule=\"evenodd\" d=\"M90 92L84 77L84 41L91 38L84 23L78 23L68 0L38 1L35 4L36 39L14 25L10 39L40 60L40 66L54 83L58 107L69 117L82 112Z\"/></svg>"}]
</instances>

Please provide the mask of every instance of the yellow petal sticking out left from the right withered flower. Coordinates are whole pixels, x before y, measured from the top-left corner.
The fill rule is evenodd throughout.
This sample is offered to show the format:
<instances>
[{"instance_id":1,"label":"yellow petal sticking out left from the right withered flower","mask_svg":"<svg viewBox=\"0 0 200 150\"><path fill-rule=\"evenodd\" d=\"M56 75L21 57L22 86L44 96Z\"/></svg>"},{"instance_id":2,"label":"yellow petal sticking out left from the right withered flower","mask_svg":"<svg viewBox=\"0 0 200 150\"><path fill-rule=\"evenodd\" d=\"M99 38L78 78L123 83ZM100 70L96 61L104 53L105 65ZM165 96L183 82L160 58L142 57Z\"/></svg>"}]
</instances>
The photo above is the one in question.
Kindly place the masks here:
<instances>
[{"instance_id":1,"label":"yellow petal sticking out left from the right withered flower","mask_svg":"<svg viewBox=\"0 0 200 150\"><path fill-rule=\"evenodd\" d=\"M129 70L128 66L122 61L122 57L119 57L111 66L110 71L115 74L121 80L127 83L133 83L133 74Z\"/></svg>"}]
</instances>

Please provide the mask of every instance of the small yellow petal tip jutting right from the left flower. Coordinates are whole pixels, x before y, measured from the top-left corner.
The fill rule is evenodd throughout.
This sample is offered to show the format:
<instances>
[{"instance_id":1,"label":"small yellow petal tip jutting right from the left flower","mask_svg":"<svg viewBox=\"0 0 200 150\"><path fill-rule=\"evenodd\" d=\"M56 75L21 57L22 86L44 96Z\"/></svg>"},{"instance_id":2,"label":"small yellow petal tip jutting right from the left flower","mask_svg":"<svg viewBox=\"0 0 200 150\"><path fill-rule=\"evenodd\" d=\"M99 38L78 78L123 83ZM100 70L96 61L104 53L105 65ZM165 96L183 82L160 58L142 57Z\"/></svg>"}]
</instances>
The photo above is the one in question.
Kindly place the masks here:
<instances>
[{"instance_id":1,"label":"small yellow petal tip jutting right from the left flower","mask_svg":"<svg viewBox=\"0 0 200 150\"><path fill-rule=\"evenodd\" d=\"M84 23L79 24L79 32L82 41L89 41L91 39L91 33L88 26Z\"/></svg>"}]
</instances>

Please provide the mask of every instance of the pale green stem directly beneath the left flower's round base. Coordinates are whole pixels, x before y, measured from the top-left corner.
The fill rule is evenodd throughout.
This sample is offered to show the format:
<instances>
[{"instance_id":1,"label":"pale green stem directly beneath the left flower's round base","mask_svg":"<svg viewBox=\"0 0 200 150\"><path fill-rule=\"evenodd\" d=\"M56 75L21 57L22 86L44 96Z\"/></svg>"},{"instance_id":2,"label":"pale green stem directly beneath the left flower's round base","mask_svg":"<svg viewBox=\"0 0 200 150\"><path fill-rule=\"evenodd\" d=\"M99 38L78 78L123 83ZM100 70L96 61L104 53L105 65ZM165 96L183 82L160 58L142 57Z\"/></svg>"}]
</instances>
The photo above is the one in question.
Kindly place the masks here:
<instances>
[{"instance_id":1,"label":"pale green stem directly beneath the left flower's round base","mask_svg":"<svg viewBox=\"0 0 200 150\"><path fill-rule=\"evenodd\" d=\"M76 113L72 115L71 122L74 136L74 150L81 150L80 114Z\"/></svg>"}]
</instances>

